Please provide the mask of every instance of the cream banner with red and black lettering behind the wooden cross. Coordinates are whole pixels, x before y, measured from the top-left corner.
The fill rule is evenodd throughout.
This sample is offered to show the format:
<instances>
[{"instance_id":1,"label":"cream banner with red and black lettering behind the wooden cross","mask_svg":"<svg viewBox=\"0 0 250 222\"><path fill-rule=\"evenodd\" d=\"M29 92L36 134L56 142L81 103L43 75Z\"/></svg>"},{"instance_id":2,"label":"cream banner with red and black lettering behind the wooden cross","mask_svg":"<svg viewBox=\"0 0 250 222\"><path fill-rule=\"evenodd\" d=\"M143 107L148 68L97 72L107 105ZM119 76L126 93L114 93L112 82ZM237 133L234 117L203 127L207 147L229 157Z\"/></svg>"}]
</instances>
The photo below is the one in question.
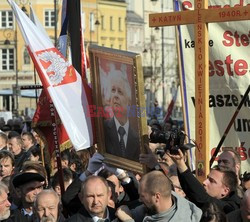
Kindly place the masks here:
<instances>
[{"instance_id":1,"label":"cream banner with red and black lettering behind the wooden cross","mask_svg":"<svg viewBox=\"0 0 250 222\"><path fill-rule=\"evenodd\" d=\"M245 11L237 6L247 6ZM210 0L209 8L234 7L230 12L218 13L220 18L241 17L250 13L250 0ZM193 1L179 0L179 10L194 9ZM209 15L208 15L209 16ZM184 19L165 18L166 22ZM187 23L188 23L187 18ZM171 20L171 21L170 21ZM164 21L159 21L160 23ZM187 103L187 126L190 137L195 138L195 76L194 76L194 31L193 25L180 26L181 44L184 58L184 76L182 78ZM209 23L209 108L210 108L210 147L211 153L218 145L242 96L250 84L250 21ZM185 83L184 83L185 81ZM250 171L250 95L240 110L234 125L222 146L237 149L241 155L242 172Z\"/></svg>"}]
</instances>

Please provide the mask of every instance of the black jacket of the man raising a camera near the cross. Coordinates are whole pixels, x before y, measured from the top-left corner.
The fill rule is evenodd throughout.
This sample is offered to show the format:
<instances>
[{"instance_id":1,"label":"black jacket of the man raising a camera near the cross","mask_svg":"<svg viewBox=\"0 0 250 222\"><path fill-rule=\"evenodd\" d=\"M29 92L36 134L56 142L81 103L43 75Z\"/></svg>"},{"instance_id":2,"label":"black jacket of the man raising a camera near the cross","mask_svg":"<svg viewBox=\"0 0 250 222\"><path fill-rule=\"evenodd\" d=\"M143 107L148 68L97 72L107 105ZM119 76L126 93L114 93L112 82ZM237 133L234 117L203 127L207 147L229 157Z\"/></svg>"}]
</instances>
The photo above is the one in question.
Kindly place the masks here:
<instances>
[{"instance_id":1,"label":"black jacket of the man raising a camera near the cross","mask_svg":"<svg viewBox=\"0 0 250 222\"><path fill-rule=\"evenodd\" d=\"M205 203L214 202L226 214L239 209L240 198L235 192L231 192L228 196L222 199L216 199L208 195L205 188L194 177L189 169L183 173L178 172L178 176L181 187L187 195L187 198L195 203L199 208L202 208Z\"/></svg>"}]
</instances>

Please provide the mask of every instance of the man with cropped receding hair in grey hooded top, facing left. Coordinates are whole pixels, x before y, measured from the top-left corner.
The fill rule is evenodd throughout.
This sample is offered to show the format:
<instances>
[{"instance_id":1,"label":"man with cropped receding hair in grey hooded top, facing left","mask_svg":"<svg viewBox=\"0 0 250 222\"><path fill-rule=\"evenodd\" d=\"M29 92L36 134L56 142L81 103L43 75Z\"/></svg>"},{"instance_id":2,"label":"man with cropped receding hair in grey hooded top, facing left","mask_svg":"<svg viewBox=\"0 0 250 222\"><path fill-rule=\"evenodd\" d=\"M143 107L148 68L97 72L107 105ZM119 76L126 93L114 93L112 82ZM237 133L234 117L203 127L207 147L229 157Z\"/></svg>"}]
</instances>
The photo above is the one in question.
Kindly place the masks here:
<instances>
[{"instance_id":1,"label":"man with cropped receding hair in grey hooded top, facing left","mask_svg":"<svg viewBox=\"0 0 250 222\"><path fill-rule=\"evenodd\" d=\"M117 210L121 221L200 221L201 210L171 191L171 181L160 171L144 175L139 186L143 205L130 213L126 206Z\"/></svg>"}]
</instances>

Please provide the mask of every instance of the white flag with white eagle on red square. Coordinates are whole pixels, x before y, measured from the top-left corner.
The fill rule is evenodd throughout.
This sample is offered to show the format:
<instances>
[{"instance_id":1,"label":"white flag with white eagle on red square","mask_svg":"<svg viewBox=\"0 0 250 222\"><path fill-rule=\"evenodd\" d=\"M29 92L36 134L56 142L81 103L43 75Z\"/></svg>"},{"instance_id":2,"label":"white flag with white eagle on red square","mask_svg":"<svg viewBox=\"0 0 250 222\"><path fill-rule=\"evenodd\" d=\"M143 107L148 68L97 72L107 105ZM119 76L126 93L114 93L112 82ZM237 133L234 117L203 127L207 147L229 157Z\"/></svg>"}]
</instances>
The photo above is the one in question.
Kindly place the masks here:
<instances>
[{"instance_id":1,"label":"white flag with white eagle on red square","mask_svg":"<svg viewBox=\"0 0 250 222\"><path fill-rule=\"evenodd\" d=\"M8 0L44 89L49 93L76 150L93 145L85 84L74 67L13 0Z\"/></svg>"}]
</instances>

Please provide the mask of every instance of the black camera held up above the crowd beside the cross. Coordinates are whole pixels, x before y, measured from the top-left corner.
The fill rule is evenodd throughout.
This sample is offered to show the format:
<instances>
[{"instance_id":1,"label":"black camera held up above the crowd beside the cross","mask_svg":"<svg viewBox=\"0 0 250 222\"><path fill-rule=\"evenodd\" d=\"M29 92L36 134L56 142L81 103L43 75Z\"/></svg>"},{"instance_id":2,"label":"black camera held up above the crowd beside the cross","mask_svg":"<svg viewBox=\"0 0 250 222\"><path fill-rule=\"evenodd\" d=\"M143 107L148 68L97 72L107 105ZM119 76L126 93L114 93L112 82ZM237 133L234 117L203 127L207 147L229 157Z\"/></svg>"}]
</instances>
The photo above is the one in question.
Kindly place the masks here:
<instances>
[{"instance_id":1,"label":"black camera held up above the crowd beside the cross","mask_svg":"<svg viewBox=\"0 0 250 222\"><path fill-rule=\"evenodd\" d=\"M188 150L194 147L193 144L184 144L186 134L179 129L173 129L171 131L161 131L158 128L152 127L152 133L150 134L151 143L164 143L164 153L169 150L170 154L178 154L178 150ZM162 150L157 150L160 156L164 153ZM156 153L157 154L157 153Z\"/></svg>"}]
</instances>

